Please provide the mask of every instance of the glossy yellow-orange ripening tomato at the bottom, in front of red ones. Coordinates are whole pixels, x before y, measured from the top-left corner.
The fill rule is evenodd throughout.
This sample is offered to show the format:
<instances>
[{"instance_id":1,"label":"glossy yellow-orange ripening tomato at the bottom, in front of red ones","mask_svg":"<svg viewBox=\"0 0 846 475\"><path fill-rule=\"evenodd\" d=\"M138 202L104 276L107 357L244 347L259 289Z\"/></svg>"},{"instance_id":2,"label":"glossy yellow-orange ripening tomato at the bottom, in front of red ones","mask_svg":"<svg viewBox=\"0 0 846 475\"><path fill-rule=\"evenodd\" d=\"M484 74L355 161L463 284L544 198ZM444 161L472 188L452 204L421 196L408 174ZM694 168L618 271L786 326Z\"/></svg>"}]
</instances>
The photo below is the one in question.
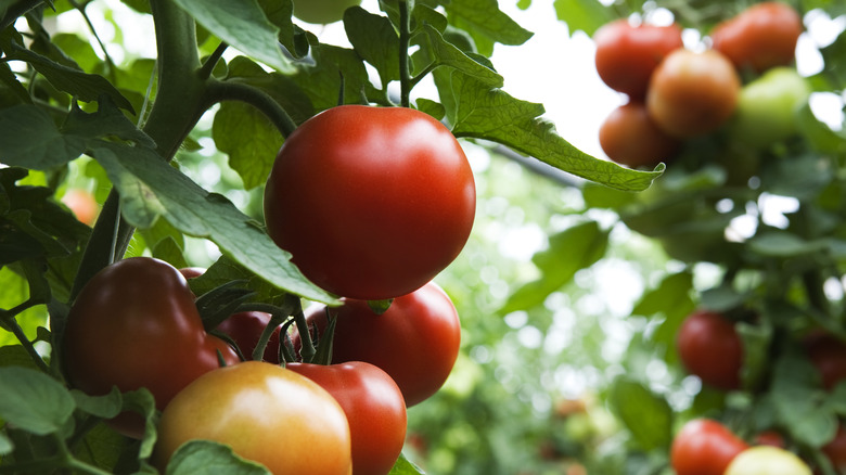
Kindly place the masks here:
<instances>
[{"instance_id":1,"label":"glossy yellow-orange ripening tomato at the bottom, in front of red ones","mask_svg":"<svg viewBox=\"0 0 846 475\"><path fill-rule=\"evenodd\" d=\"M162 473L172 453L193 439L229 445L273 474L351 473L349 425L335 398L313 381L266 362L206 373L170 401L154 451Z\"/></svg>"}]
</instances>

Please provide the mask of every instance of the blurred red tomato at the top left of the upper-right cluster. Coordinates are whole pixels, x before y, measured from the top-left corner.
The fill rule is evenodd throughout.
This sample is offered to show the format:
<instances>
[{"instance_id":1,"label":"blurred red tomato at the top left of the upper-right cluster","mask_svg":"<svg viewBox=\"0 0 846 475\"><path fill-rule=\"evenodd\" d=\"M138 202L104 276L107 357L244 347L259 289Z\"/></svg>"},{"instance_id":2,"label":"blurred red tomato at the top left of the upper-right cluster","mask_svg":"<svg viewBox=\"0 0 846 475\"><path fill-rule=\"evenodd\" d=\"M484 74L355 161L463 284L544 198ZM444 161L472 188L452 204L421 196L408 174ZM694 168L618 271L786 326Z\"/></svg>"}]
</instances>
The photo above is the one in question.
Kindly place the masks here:
<instances>
[{"instance_id":1,"label":"blurred red tomato at the top left of the upper-right cluster","mask_svg":"<svg viewBox=\"0 0 846 475\"><path fill-rule=\"evenodd\" d=\"M616 20L593 35L597 73L612 89L632 99L646 95L650 76L670 51L682 47L678 25L632 25Z\"/></svg>"}]
</instances>

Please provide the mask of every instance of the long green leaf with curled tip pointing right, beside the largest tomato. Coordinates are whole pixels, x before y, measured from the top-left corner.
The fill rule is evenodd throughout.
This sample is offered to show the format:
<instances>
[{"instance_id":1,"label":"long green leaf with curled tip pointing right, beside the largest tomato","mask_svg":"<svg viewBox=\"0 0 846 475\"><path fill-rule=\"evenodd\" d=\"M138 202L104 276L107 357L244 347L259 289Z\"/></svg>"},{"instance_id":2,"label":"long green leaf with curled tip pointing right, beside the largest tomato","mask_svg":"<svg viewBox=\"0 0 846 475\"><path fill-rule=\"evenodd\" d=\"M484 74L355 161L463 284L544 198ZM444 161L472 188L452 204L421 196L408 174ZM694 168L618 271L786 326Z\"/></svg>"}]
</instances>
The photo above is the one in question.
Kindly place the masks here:
<instances>
[{"instance_id":1,"label":"long green leaf with curled tip pointing right, beside the largest tomato","mask_svg":"<svg viewBox=\"0 0 846 475\"><path fill-rule=\"evenodd\" d=\"M594 158L559 136L552 124L539 118L544 112L541 104L520 101L466 75L452 74L452 90L458 101L450 115L454 118L456 137L490 140L619 190L645 190L664 170L662 165L655 171L637 171Z\"/></svg>"}]
</instances>

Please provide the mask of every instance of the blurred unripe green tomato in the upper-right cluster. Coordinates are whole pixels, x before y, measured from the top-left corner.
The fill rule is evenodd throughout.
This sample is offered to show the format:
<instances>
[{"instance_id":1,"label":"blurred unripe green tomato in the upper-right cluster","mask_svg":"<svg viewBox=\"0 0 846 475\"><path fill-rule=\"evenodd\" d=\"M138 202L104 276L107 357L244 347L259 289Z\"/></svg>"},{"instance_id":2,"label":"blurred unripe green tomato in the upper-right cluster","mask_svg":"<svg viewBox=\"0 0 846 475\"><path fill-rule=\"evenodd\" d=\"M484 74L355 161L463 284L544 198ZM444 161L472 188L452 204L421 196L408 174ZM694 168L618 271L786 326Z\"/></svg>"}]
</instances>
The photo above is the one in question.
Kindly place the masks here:
<instances>
[{"instance_id":1,"label":"blurred unripe green tomato in the upper-right cluster","mask_svg":"<svg viewBox=\"0 0 846 475\"><path fill-rule=\"evenodd\" d=\"M808 82L792 67L774 67L746 85L731 127L734 140L767 146L796 133L796 111L810 95Z\"/></svg>"}]
</instances>

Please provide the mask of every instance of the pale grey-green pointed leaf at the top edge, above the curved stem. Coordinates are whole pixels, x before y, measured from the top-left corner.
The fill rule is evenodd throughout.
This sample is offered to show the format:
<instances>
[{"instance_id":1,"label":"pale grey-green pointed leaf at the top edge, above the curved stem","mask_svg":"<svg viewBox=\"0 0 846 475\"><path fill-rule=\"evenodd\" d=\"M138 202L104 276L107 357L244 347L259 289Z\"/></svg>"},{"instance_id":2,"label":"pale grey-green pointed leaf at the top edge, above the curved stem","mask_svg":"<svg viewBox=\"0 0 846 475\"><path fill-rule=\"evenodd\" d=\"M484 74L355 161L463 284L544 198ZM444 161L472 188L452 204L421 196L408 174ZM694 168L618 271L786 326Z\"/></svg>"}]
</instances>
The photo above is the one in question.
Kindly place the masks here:
<instances>
[{"instance_id":1,"label":"pale grey-green pointed leaf at the top edge, above the curved stem","mask_svg":"<svg viewBox=\"0 0 846 475\"><path fill-rule=\"evenodd\" d=\"M256 0L176 0L201 25L244 54L280 72L294 67L279 48L279 28Z\"/></svg>"}]
</instances>

